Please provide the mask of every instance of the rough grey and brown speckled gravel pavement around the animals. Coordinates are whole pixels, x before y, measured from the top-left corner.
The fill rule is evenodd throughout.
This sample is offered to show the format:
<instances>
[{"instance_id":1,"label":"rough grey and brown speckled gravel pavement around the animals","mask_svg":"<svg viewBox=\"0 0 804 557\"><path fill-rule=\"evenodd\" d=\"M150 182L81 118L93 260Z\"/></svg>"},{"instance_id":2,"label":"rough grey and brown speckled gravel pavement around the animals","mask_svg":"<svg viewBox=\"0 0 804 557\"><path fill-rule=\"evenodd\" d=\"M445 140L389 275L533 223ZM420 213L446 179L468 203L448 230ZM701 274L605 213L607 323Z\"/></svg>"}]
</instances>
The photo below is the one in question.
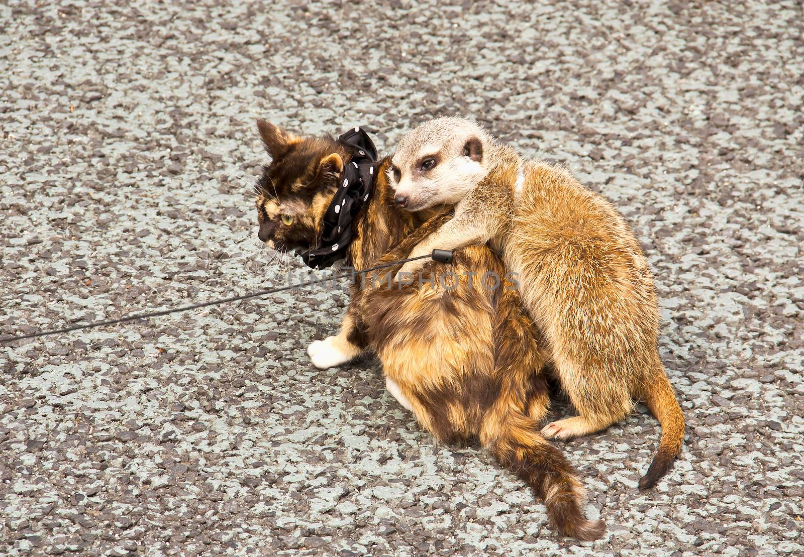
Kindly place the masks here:
<instances>
[{"instance_id":1,"label":"rough grey and brown speckled gravel pavement around the animals","mask_svg":"<svg viewBox=\"0 0 804 557\"><path fill-rule=\"evenodd\" d=\"M0 348L0 553L804 553L802 5L547 3L3 2L0 330L285 284L256 117L391 150L474 114L642 240L689 426L658 487L645 408L560 444L609 528L560 539L377 362L312 367L347 298L309 289Z\"/></svg>"}]
</instances>

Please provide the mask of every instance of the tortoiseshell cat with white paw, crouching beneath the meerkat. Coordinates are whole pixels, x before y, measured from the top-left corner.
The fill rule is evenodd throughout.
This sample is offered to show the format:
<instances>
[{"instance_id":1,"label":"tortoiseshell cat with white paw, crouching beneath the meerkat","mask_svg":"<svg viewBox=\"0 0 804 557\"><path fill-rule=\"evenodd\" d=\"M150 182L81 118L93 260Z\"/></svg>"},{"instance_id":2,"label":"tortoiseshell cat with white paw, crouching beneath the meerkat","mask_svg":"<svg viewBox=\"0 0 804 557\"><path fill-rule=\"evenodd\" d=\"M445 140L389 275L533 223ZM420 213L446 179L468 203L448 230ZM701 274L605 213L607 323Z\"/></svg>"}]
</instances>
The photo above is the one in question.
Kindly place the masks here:
<instances>
[{"instance_id":1,"label":"tortoiseshell cat with white paw, crouching beneath the meerkat","mask_svg":"<svg viewBox=\"0 0 804 557\"><path fill-rule=\"evenodd\" d=\"M273 157L258 182L260 240L274 248L309 249L322 233L322 217L351 153L329 136L297 137L266 121L258 128ZM422 215L399 211L386 178L388 158L376 166L373 195L355 219L347 252L347 264L358 269L404 258L451 217L441 210L421 223ZM560 533L601 537L605 525L585 518L585 491L575 470L539 434L549 405L546 356L519 295L479 280L454 285L445 276L505 276L501 260L485 246L472 246L456 252L452 264L425 264L424 272L436 280L402 289L355 281L340 333L310 346L315 365L336 366L374 350L388 390L437 440L477 438L544 498Z\"/></svg>"}]
</instances>

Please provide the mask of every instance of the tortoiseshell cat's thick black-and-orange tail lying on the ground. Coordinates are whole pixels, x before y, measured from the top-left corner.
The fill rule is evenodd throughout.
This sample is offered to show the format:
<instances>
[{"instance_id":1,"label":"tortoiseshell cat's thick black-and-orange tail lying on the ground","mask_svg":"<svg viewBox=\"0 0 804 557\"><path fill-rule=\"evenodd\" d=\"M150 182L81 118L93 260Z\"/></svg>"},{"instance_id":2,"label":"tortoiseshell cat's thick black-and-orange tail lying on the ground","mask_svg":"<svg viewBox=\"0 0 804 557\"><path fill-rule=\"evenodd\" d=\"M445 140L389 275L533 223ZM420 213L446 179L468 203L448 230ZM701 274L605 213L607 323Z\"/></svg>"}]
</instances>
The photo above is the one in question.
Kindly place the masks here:
<instances>
[{"instance_id":1,"label":"tortoiseshell cat's thick black-and-orange tail lying on the ground","mask_svg":"<svg viewBox=\"0 0 804 557\"><path fill-rule=\"evenodd\" d=\"M580 540L600 538L605 523L585 517L585 489L559 449L539 435L538 425L519 412L498 414L496 419L486 420L481 440L501 465L527 481L536 497L544 499L556 530Z\"/></svg>"}]
</instances>

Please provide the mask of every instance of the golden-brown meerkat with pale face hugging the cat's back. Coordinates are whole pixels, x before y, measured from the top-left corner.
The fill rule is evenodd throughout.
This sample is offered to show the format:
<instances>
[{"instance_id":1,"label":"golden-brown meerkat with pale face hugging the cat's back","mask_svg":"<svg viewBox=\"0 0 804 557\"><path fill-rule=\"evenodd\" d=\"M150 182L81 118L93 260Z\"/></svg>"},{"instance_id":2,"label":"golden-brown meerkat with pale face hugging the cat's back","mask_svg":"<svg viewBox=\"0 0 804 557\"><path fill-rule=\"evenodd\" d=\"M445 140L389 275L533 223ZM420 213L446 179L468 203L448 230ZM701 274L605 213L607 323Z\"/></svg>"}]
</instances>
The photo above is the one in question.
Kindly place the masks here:
<instances>
[{"instance_id":1,"label":"golden-brown meerkat with pale face hugging the cat's back","mask_svg":"<svg viewBox=\"0 0 804 557\"><path fill-rule=\"evenodd\" d=\"M566 170L526 160L457 117L405 135L388 179L406 211L454 205L453 219L409 257L487 242L502 251L578 412L544 426L544 436L597 432L632 412L634 399L646 403L662 424L658 453L639 482L652 487L681 450L684 418L658 355L653 277L626 220ZM418 268L405 264L396 278Z\"/></svg>"}]
</instances>

